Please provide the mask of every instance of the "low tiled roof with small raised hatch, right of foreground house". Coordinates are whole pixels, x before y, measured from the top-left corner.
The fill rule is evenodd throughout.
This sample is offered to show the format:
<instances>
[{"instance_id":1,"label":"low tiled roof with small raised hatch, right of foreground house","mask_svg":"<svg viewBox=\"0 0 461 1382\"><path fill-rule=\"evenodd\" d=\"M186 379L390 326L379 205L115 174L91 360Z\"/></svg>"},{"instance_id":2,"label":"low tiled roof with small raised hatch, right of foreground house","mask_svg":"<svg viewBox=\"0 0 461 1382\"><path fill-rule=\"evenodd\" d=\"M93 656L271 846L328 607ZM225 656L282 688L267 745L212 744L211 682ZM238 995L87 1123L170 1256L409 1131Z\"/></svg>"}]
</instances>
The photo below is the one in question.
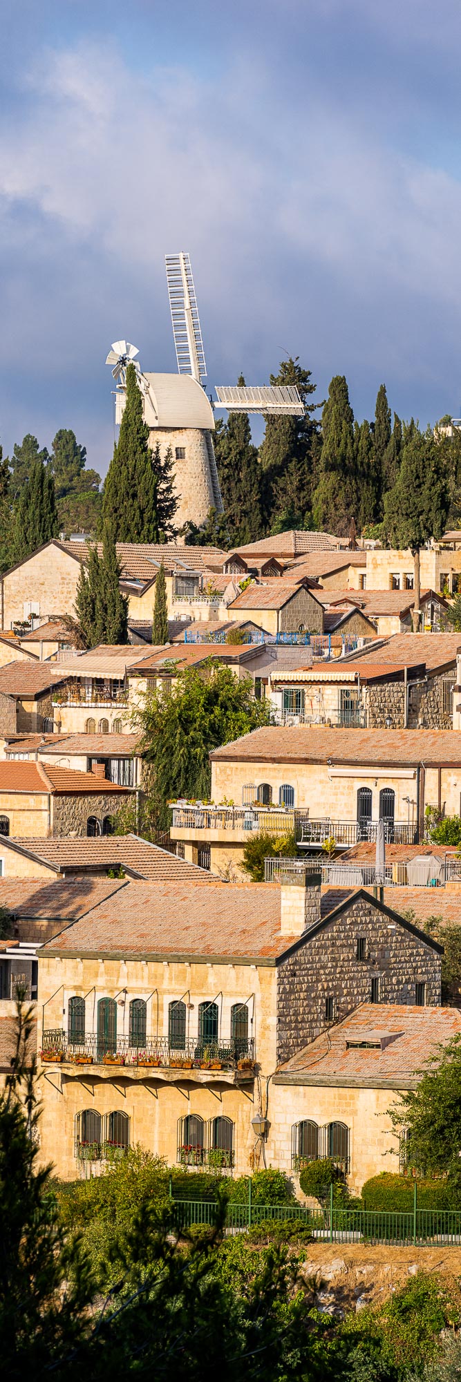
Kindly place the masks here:
<instances>
[{"instance_id":1,"label":"low tiled roof with small raised hatch, right of foreground house","mask_svg":"<svg viewBox=\"0 0 461 1382\"><path fill-rule=\"evenodd\" d=\"M282 1066L276 1083L322 1085L388 1083L403 1088L417 1083L415 1072L429 1059L438 1042L461 1032L461 1012L455 1007L414 1007L404 1003L362 1003L337 1027L298 1052ZM353 1049L346 1042L393 1039L378 1049ZM291 1078L290 1078L291 1077Z\"/></svg>"}]
</instances>

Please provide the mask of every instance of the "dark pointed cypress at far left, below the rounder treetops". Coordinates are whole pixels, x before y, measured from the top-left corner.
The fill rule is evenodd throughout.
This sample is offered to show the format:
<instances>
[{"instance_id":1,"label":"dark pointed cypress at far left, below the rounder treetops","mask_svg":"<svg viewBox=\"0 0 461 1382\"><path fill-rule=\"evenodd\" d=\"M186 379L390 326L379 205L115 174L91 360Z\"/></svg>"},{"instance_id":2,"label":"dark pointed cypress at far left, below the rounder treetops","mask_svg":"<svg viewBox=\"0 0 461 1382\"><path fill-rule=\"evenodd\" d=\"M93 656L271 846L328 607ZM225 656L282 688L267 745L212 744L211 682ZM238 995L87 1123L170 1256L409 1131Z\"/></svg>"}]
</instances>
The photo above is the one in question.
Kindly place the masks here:
<instances>
[{"instance_id":1,"label":"dark pointed cypress at far left, below the rounder treetops","mask_svg":"<svg viewBox=\"0 0 461 1382\"><path fill-rule=\"evenodd\" d=\"M59 518L50 466L32 462L29 482L14 507L11 532L12 562L22 561L59 532Z\"/></svg>"}]
</instances>

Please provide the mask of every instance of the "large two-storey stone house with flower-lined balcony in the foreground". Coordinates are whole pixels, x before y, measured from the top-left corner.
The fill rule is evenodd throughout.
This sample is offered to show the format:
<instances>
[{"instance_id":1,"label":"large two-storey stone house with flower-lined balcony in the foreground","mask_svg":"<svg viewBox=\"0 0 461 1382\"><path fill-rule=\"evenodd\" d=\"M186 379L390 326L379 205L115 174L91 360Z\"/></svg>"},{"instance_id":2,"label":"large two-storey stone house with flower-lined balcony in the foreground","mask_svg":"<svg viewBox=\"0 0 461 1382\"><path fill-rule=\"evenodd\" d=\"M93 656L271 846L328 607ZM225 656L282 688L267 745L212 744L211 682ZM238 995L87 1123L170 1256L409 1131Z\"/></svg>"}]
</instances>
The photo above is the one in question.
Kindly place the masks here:
<instances>
[{"instance_id":1,"label":"large two-storey stone house with flower-lined balcony in the foreground","mask_svg":"<svg viewBox=\"0 0 461 1382\"><path fill-rule=\"evenodd\" d=\"M438 1006L439 945L363 891L319 922L319 894L120 882L43 945L41 1157L59 1176L137 1142L170 1165L247 1173L258 1089L302 1043L370 999L377 1025L386 999L403 1019ZM269 1103L272 1165L276 1148ZM364 1179L360 1158L351 1173Z\"/></svg>"}]
</instances>

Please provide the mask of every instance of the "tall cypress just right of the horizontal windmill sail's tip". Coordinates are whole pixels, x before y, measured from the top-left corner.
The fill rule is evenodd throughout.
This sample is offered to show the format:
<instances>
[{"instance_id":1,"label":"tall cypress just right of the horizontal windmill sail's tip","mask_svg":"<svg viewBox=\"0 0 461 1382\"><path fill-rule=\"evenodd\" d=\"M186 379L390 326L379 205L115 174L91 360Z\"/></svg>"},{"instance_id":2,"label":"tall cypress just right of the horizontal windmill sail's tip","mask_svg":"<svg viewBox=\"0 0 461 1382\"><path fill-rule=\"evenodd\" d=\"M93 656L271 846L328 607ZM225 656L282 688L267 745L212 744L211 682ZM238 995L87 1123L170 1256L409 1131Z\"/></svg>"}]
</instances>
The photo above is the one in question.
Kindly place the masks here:
<instances>
[{"instance_id":1,"label":"tall cypress just right of the horizontal windmill sail's tip","mask_svg":"<svg viewBox=\"0 0 461 1382\"><path fill-rule=\"evenodd\" d=\"M353 442L353 412L344 375L335 375L322 415L320 478L313 517L320 529L346 536L360 510L360 485Z\"/></svg>"}]
</instances>

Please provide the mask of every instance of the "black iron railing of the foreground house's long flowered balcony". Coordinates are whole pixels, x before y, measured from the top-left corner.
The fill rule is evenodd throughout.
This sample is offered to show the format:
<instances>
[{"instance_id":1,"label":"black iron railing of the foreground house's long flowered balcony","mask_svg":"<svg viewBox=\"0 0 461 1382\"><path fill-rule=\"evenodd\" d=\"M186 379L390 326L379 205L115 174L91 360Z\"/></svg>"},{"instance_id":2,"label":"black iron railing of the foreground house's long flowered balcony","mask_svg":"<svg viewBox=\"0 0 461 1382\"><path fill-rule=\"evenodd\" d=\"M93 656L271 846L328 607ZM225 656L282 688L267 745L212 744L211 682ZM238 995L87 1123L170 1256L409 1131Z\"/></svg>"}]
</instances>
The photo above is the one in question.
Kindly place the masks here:
<instances>
[{"instance_id":1,"label":"black iron railing of the foreground house's long flowered balcony","mask_svg":"<svg viewBox=\"0 0 461 1382\"><path fill-rule=\"evenodd\" d=\"M167 1036L133 1042L130 1036L69 1036L61 1028L43 1032L41 1060L68 1064L152 1067L166 1070L250 1070L255 1061L253 1038L184 1041L175 1046Z\"/></svg>"}]
</instances>

